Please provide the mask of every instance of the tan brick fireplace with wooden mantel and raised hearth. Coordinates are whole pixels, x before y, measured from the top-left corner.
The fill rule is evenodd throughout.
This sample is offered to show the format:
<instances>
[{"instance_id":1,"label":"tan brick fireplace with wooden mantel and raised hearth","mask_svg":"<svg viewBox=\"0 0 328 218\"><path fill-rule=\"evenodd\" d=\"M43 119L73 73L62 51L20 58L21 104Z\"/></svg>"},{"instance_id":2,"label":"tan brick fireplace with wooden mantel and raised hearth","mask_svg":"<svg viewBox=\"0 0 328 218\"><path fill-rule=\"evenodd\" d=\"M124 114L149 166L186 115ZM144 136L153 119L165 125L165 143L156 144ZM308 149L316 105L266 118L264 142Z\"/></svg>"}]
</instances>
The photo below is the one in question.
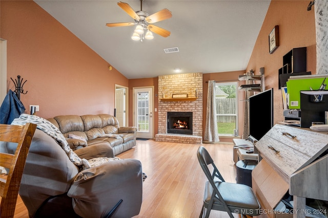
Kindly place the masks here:
<instances>
[{"instance_id":1,"label":"tan brick fireplace with wooden mantel and raised hearth","mask_svg":"<svg viewBox=\"0 0 328 218\"><path fill-rule=\"evenodd\" d=\"M202 73L158 77L158 134L155 136L156 141L202 143L202 84ZM172 98L173 94L187 94L188 97ZM180 132L168 131L168 112L191 113L192 126L187 127L191 131L185 131L186 127L183 127L185 130ZM183 133L181 134L181 132Z\"/></svg>"}]
</instances>

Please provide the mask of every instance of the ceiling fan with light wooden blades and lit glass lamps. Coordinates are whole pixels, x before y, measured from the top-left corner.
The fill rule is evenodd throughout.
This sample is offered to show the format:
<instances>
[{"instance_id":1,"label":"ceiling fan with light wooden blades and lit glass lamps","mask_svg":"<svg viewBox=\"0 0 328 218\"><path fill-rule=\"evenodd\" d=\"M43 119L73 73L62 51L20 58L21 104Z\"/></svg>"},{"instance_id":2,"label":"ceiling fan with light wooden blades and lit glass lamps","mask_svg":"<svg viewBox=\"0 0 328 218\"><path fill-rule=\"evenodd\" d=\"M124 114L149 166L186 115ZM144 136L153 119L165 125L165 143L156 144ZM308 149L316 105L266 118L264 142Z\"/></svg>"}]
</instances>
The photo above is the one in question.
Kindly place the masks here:
<instances>
[{"instance_id":1,"label":"ceiling fan with light wooden blades and lit glass lamps","mask_svg":"<svg viewBox=\"0 0 328 218\"><path fill-rule=\"evenodd\" d=\"M154 36L151 32L154 32L160 36L168 37L170 36L171 32L168 30L165 30L163 28L157 27L155 25L152 25L158 21L169 19L172 17L171 11L168 9L162 9L152 15L149 15L146 11L142 11L142 0L140 0L140 11L134 11L131 6L124 2L119 2L117 5L123 9L129 16L131 16L135 23L133 22L126 22L126 23L109 23L106 24L107 27L124 27L124 26L133 26L137 25L136 29L134 30L134 33L132 35L133 40L139 40L144 37L144 30L148 30L146 33L145 38L146 39L152 39ZM141 36L140 36L141 35Z\"/></svg>"}]
</instances>

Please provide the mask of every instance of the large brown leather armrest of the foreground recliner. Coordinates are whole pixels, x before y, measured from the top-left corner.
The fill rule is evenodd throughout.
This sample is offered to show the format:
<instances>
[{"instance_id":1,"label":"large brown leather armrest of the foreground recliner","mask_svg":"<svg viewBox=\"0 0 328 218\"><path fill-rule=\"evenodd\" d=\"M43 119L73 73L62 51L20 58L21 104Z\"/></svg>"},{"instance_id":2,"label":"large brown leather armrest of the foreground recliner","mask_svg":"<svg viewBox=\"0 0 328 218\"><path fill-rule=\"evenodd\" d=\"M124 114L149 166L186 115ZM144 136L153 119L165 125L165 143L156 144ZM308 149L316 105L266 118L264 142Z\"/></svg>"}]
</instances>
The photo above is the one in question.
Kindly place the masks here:
<instances>
[{"instance_id":1,"label":"large brown leather armrest of the foreground recliner","mask_svg":"<svg viewBox=\"0 0 328 218\"><path fill-rule=\"evenodd\" d=\"M74 211L104 217L120 201L115 217L132 217L142 203L142 168L138 160L121 159L79 172L68 191Z\"/></svg>"}]
</instances>

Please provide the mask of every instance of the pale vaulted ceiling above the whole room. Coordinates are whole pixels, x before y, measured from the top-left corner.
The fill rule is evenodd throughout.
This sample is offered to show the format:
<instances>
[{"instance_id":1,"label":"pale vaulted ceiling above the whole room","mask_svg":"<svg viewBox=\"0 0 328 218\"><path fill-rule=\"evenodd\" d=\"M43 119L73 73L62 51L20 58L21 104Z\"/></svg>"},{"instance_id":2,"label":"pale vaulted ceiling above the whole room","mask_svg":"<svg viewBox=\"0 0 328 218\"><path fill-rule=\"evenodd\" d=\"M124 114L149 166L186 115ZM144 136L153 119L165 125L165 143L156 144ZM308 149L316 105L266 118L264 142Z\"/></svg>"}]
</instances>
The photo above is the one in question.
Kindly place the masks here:
<instances>
[{"instance_id":1,"label":"pale vaulted ceiling above the whole room","mask_svg":"<svg viewBox=\"0 0 328 218\"><path fill-rule=\"evenodd\" d=\"M269 0L142 1L142 11L163 8L172 18L154 25L171 35L134 41L135 26L107 27L134 22L118 1L35 1L113 68L128 79L179 73L217 73L245 70L270 5ZM140 1L124 1L135 11ZM165 53L178 48L179 52Z\"/></svg>"}]
</instances>

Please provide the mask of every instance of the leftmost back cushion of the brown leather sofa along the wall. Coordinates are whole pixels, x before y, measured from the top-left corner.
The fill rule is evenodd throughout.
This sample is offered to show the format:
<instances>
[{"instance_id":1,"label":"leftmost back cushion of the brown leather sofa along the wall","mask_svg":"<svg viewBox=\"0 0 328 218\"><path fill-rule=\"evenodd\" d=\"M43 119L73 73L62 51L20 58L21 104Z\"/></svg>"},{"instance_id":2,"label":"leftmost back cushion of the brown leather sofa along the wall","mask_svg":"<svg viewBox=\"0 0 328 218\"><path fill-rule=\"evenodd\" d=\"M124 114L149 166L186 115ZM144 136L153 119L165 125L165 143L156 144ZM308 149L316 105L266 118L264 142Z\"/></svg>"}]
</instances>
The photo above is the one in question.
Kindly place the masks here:
<instances>
[{"instance_id":1,"label":"leftmost back cushion of the brown leather sofa along the wall","mask_svg":"<svg viewBox=\"0 0 328 218\"><path fill-rule=\"evenodd\" d=\"M59 125L60 132L65 134L72 131L84 131L84 123L78 115L61 115L54 119Z\"/></svg>"}]
</instances>

